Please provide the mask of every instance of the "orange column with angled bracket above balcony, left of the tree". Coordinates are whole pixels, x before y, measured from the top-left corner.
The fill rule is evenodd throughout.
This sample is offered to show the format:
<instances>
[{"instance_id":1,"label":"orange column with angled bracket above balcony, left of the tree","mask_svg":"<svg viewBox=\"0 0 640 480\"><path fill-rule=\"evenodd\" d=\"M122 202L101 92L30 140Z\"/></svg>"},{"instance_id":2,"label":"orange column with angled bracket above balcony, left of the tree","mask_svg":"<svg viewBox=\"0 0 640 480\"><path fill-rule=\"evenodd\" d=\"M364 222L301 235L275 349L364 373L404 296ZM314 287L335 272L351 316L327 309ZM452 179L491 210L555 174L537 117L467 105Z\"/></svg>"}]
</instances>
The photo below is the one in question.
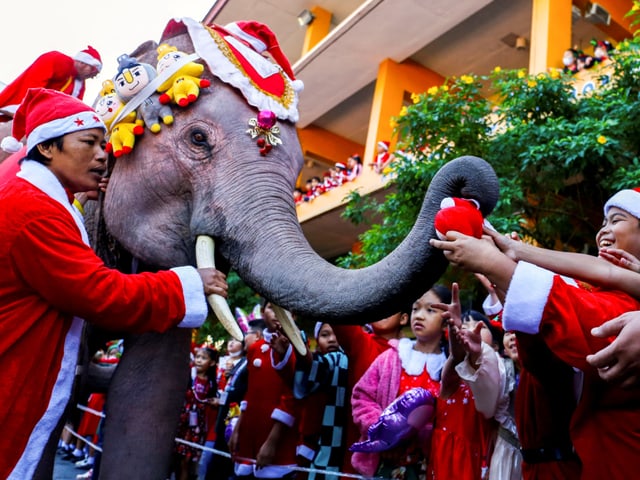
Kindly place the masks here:
<instances>
[{"instance_id":1,"label":"orange column with angled bracket above balcony, left of the tree","mask_svg":"<svg viewBox=\"0 0 640 480\"><path fill-rule=\"evenodd\" d=\"M396 63L386 59L380 64L363 157L365 167L373 161L378 141L389 141L393 150L395 139L392 138L391 119L399 115L406 98L411 93L422 93L434 85L440 86L444 80L442 75L413 62ZM370 168L364 171L375 175Z\"/></svg>"}]
</instances>

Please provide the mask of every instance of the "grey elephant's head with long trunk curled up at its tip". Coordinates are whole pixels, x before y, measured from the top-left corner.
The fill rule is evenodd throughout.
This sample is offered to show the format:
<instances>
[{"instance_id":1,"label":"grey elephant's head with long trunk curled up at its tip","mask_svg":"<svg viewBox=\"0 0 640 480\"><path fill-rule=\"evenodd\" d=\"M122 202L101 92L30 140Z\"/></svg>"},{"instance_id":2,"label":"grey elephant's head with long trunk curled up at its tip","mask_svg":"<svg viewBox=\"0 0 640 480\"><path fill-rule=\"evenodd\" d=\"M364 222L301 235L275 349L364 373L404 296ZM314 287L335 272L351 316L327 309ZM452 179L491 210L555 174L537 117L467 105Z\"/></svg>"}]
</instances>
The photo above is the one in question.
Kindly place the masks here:
<instances>
[{"instance_id":1,"label":"grey elephant's head with long trunk curled up at its tip","mask_svg":"<svg viewBox=\"0 0 640 480\"><path fill-rule=\"evenodd\" d=\"M494 207L498 182L492 168L479 158L459 158L436 175L415 227L387 258L361 270L331 265L304 238L292 199L303 159L295 103L283 103L291 101L286 95L296 96L291 82L286 79L289 90L277 99L285 105L277 112L282 144L262 155L247 133L248 122L259 110L275 108L252 106L249 87L236 88L252 80L220 43L224 33L191 24L190 32L172 30L162 41L188 53L195 43L203 64L208 62L203 78L211 86L187 108L174 108L173 125L158 134L147 131L131 154L118 159L104 206L112 235L145 263L195 264L196 238L209 235L219 265L233 268L272 302L305 317L365 323L397 311L444 272L445 258L429 245L443 197L475 198L485 215ZM155 64L154 46L143 47L134 55ZM236 70L222 81L219 71L230 65Z\"/></svg>"}]
</instances>

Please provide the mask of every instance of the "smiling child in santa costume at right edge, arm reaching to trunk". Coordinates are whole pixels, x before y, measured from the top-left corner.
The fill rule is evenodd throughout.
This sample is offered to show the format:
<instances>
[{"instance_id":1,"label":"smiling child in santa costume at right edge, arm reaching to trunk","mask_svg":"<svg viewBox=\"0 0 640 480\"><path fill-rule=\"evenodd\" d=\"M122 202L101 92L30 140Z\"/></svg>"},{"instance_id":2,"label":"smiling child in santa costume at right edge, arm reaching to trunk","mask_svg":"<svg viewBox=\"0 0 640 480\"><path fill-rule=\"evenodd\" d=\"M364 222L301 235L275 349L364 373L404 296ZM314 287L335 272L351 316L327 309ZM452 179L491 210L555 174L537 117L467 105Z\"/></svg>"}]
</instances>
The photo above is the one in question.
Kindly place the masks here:
<instances>
[{"instance_id":1,"label":"smiling child in santa costume at right edge, arm reaching to trunk","mask_svg":"<svg viewBox=\"0 0 640 480\"><path fill-rule=\"evenodd\" d=\"M605 204L604 214L596 235L601 254L615 249L640 258L640 191L616 193ZM498 242L498 237L495 235L494 241ZM540 336L560 360L583 372L570 426L571 440L582 462L580 478L633 478L640 462L640 390L605 382L587 356L606 348L613 340L596 337L592 329L624 312L640 310L640 302L621 290L595 288L554 273L551 265L563 269L567 263L561 266L562 258L558 259L554 252L538 249L537 256L526 257L529 261L539 259L546 267L542 268L522 260L521 255L515 255L519 259L515 261L514 256L481 239L457 232L447 233L447 239L431 240L431 244L443 249L451 262L483 273L498 291L506 292L506 330ZM584 268L584 256L575 258L588 270ZM595 260L591 263L599 268ZM614 272L613 276L623 275ZM587 278L594 283L598 280ZM613 283L608 277L602 276L601 280ZM633 281L637 283L637 278Z\"/></svg>"}]
</instances>

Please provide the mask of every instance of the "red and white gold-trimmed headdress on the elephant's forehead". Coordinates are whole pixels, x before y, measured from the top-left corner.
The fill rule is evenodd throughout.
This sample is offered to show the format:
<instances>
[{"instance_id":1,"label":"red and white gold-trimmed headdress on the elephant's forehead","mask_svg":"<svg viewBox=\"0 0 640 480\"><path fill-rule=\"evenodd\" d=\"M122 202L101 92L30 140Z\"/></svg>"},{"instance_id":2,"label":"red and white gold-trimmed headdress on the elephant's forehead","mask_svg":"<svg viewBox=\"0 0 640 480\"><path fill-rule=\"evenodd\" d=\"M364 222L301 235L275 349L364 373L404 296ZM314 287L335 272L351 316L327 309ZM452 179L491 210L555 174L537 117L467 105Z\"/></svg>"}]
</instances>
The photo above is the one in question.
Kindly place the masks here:
<instances>
[{"instance_id":1,"label":"red and white gold-trimmed headdress on the elephant's forehead","mask_svg":"<svg viewBox=\"0 0 640 480\"><path fill-rule=\"evenodd\" d=\"M268 33L266 38L275 39L268 27L258 22L204 26L193 19L182 18L169 22L163 40L179 30L180 24L186 27L195 52L213 75L240 90L247 102L258 110L270 110L281 120L298 121L298 92L302 90L302 82L292 78L291 67L277 43L265 44L264 37L254 37L255 42L251 42L247 41L251 34L241 34L247 26L259 27L261 33ZM256 48L256 44L265 48ZM279 54L273 56L280 63L263 57L262 51L277 51Z\"/></svg>"}]
</instances>

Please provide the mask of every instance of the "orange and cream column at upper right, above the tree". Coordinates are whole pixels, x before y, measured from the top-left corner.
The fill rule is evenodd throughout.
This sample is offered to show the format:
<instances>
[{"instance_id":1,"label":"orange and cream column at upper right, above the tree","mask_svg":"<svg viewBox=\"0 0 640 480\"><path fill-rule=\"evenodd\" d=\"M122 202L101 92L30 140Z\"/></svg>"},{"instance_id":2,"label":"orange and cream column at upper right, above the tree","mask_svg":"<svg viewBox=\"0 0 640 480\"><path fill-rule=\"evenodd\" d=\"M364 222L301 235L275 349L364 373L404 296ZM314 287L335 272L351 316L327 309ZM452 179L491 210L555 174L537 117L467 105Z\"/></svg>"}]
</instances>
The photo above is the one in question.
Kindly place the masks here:
<instances>
[{"instance_id":1,"label":"orange and cream column at upper right, above the tree","mask_svg":"<svg viewBox=\"0 0 640 480\"><path fill-rule=\"evenodd\" d=\"M571 48L571 0L533 0L529 73L562 68L562 54Z\"/></svg>"}]
</instances>

